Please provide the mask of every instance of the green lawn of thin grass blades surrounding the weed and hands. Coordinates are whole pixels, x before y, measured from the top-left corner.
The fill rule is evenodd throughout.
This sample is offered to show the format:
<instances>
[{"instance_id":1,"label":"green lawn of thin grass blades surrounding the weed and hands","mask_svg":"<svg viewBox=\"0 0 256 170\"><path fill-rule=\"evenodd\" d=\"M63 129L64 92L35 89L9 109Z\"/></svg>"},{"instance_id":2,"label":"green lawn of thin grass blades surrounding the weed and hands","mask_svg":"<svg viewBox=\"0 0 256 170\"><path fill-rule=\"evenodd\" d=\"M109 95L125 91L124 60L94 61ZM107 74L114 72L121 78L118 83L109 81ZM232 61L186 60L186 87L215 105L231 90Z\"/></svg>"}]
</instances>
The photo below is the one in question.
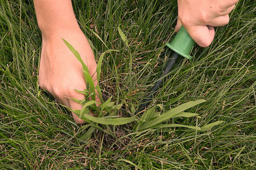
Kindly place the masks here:
<instances>
[{"instance_id":1,"label":"green lawn of thin grass blades surrounding the weed and hands","mask_svg":"<svg viewBox=\"0 0 256 170\"><path fill-rule=\"evenodd\" d=\"M174 37L177 2L80 0L73 7L97 60L108 49L120 51L106 53L99 85L105 100L123 103L113 115L131 117L171 53L165 44ZM168 122L225 123L206 132L171 127L129 135L134 122L110 126L116 138L98 130L86 141L79 138L88 125L76 125L38 87L41 33L32 1L1 0L0 169L256 169L255 12L255 0L240 0L211 46L195 46L192 61L178 60L151 102L164 113L205 99L186 110L200 118Z\"/></svg>"}]
</instances>

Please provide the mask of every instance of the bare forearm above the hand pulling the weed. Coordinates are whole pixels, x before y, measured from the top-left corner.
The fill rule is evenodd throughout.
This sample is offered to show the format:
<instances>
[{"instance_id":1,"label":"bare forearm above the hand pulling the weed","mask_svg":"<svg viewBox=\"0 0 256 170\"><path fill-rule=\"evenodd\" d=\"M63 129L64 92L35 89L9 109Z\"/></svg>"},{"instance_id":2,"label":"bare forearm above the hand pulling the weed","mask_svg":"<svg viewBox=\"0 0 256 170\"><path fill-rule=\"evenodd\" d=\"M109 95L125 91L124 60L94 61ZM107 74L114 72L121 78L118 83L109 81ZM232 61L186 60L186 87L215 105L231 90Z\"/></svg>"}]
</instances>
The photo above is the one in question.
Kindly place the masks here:
<instances>
[{"instance_id":1,"label":"bare forearm above the hand pulling the weed","mask_svg":"<svg viewBox=\"0 0 256 170\"><path fill-rule=\"evenodd\" d=\"M43 35L59 29L79 29L71 0L34 0L34 6Z\"/></svg>"}]
</instances>

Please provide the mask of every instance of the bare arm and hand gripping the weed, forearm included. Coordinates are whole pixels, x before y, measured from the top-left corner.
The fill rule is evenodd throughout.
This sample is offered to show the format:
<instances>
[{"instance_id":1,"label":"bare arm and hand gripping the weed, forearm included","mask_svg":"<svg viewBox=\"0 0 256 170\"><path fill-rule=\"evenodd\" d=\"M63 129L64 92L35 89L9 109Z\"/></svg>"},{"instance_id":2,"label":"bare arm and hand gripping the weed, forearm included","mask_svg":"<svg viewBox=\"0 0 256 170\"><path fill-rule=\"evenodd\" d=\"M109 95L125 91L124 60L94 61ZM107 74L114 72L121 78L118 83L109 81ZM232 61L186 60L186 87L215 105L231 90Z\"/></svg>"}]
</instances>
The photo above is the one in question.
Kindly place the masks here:
<instances>
[{"instance_id":1,"label":"bare arm and hand gripping the weed, forearm included","mask_svg":"<svg viewBox=\"0 0 256 170\"><path fill-rule=\"evenodd\" d=\"M90 75L93 76L95 85L97 73L93 51L79 28L71 0L34 0L34 6L38 26L42 32L39 86L48 91L57 102L71 109L81 110L82 105L69 98L84 99L83 94L74 90L86 88L83 68L62 38L79 52ZM100 102L98 98L96 101ZM85 122L74 113L72 116L78 124Z\"/></svg>"}]
</instances>

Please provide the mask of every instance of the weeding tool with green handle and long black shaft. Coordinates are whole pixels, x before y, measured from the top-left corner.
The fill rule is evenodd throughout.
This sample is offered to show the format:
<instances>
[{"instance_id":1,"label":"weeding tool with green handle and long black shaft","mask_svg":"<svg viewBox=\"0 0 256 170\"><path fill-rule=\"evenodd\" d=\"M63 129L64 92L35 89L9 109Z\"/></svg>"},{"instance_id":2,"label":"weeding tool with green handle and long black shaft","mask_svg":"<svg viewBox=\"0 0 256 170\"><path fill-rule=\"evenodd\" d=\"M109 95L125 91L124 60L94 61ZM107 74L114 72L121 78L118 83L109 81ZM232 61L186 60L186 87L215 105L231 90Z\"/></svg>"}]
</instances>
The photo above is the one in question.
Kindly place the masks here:
<instances>
[{"instance_id":1,"label":"weeding tool with green handle and long black shaft","mask_svg":"<svg viewBox=\"0 0 256 170\"><path fill-rule=\"evenodd\" d=\"M190 56L189 53L191 52L195 44L195 41L190 37L188 31L183 26L181 26L180 30L173 38L172 42L166 44L167 47L173 50L172 57L169 58L163 74L160 76L158 82L155 83L147 97L142 101L142 104L139 106L139 112L148 106L151 99L153 99L155 92L157 92L157 90L162 87L163 79L165 78L167 73L170 72L178 57L182 56L187 58L188 60L192 59L192 56Z\"/></svg>"}]
</instances>

